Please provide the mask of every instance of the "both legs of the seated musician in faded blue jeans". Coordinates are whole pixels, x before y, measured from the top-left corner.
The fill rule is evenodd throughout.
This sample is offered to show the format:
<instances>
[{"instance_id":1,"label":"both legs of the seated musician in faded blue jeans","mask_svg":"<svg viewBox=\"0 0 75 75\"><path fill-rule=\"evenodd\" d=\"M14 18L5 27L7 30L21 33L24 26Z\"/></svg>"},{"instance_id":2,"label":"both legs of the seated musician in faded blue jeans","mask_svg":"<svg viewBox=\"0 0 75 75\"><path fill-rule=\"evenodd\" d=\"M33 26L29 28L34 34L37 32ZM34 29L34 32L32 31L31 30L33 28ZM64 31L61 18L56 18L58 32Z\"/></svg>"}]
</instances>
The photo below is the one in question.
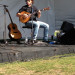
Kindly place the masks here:
<instances>
[{"instance_id":1,"label":"both legs of the seated musician in faded blue jeans","mask_svg":"<svg viewBox=\"0 0 75 75\"><path fill-rule=\"evenodd\" d=\"M27 25L32 26L32 21L29 21ZM33 40L37 39L39 27L44 28L44 41L48 41L48 32L49 32L49 25L47 23L41 21L33 21L34 32L33 32Z\"/></svg>"}]
</instances>

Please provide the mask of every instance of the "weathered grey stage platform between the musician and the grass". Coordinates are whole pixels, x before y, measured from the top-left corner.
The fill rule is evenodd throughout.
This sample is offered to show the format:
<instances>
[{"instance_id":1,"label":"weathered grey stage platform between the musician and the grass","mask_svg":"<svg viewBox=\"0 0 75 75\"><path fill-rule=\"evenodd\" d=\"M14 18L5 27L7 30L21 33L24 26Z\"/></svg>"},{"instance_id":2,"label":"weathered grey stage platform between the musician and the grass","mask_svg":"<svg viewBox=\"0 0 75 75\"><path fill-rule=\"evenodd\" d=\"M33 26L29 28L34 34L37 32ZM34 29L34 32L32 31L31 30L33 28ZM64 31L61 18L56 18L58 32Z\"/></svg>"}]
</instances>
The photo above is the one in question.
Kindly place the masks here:
<instances>
[{"instance_id":1,"label":"weathered grey stage platform between the musician and the grass","mask_svg":"<svg viewBox=\"0 0 75 75\"><path fill-rule=\"evenodd\" d=\"M75 45L55 45L38 42L35 44L0 44L0 63L29 61L46 56L75 53Z\"/></svg>"}]
</instances>

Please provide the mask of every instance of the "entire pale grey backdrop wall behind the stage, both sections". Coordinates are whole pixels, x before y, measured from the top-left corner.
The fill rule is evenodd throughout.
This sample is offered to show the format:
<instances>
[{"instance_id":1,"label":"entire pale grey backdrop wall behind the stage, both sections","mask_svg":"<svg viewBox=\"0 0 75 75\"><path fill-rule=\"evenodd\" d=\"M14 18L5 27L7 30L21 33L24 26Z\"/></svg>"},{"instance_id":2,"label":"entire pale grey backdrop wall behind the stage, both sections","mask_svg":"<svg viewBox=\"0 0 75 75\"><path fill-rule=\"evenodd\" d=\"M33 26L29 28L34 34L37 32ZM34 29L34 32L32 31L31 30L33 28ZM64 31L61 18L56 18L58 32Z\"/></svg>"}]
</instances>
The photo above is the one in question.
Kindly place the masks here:
<instances>
[{"instance_id":1,"label":"entire pale grey backdrop wall behind the stage, both sections","mask_svg":"<svg viewBox=\"0 0 75 75\"><path fill-rule=\"evenodd\" d=\"M16 12L25 4L24 0L0 0L0 4L8 5L12 20L18 26L22 36L30 37L30 30L22 29L24 24L19 23L18 17L16 17ZM42 12L41 18L38 19L50 25L49 36L54 33L55 29L60 29L63 21L68 21L75 24L75 0L35 0L35 5L38 7L38 9L48 6L50 7L50 10ZM9 38L7 26L10 24L10 22L9 16L6 13L6 38ZM3 39L4 31L4 8L0 7L0 39ZM40 29L38 37L39 36L43 37L43 29Z\"/></svg>"}]
</instances>

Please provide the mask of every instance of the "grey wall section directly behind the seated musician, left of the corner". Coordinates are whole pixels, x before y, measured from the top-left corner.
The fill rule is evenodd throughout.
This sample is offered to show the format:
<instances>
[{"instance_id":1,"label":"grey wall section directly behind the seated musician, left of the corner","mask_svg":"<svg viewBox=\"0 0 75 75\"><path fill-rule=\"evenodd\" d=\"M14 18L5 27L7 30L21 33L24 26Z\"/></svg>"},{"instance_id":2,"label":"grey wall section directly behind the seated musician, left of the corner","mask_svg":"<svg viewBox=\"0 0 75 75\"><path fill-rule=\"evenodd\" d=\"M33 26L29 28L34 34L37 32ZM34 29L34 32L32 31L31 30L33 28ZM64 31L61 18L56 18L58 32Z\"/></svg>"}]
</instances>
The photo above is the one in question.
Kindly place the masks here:
<instances>
[{"instance_id":1,"label":"grey wall section directly behind the seated musician, left of the corner","mask_svg":"<svg viewBox=\"0 0 75 75\"><path fill-rule=\"evenodd\" d=\"M21 31L22 36L30 37L30 30L22 29L24 24L19 23L18 17L16 17L17 11L25 4L25 0L0 0L0 4L8 5L8 10L12 17L12 20L18 26L18 29ZM35 0L35 5L39 8L50 7L49 11L42 12L42 16L39 20L44 21L50 25L49 36L54 34L55 30L55 15L54 15L54 1L53 0ZM10 24L10 18L8 13L6 13L6 38L8 37L9 30L7 26ZM0 39L3 39L3 33L5 31L5 19L4 19L4 8L0 7ZM43 37L43 29L40 29L38 37Z\"/></svg>"}]
</instances>

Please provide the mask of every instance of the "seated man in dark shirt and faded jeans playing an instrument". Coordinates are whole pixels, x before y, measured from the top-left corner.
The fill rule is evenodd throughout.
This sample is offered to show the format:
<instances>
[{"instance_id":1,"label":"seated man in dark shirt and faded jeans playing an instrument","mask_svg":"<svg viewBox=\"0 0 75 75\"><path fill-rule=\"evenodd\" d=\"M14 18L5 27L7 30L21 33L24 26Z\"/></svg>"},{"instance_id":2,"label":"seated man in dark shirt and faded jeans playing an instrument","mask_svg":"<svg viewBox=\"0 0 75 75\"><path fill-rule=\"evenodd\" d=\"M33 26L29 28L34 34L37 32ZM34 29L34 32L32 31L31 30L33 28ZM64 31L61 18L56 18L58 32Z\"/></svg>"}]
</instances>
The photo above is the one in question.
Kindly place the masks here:
<instances>
[{"instance_id":1,"label":"seated man in dark shirt and faded jeans playing an instrument","mask_svg":"<svg viewBox=\"0 0 75 75\"><path fill-rule=\"evenodd\" d=\"M38 10L34 5L34 0L26 0L26 5L23 6L17 13L17 16L20 17L21 15L28 17L28 14L21 14L22 11L26 11L29 13L34 13L32 14L32 16L30 17L29 21L27 21L25 23L25 25L28 26L34 26L34 31L33 31L33 41L37 40L37 35L38 35L38 31L40 27L44 28L44 37L43 37L43 41L47 42L48 41L48 31L49 31L49 25L47 23L41 22L41 21L37 21L36 18L40 18L41 17L41 11Z\"/></svg>"}]
</instances>

